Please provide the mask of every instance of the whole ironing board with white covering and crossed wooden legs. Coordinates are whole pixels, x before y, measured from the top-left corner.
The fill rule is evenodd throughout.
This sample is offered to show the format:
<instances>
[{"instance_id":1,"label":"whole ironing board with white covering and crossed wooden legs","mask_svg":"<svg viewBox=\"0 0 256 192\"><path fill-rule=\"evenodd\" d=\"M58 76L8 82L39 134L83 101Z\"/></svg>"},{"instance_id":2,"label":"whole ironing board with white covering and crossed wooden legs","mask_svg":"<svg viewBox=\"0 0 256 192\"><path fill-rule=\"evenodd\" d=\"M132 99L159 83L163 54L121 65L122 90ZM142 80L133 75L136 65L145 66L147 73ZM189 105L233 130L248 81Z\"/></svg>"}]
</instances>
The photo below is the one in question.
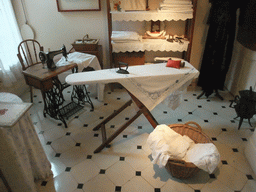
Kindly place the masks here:
<instances>
[{"instance_id":1,"label":"whole ironing board with white covering and crossed wooden legs","mask_svg":"<svg viewBox=\"0 0 256 192\"><path fill-rule=\"evenodd\" d=\"M116 68L112 68L88 72L87 74L76 73L71 74L66 78L66 82L72 85L120 83L127 90L132 101L136 103L139 108L137 114L121 126L108 139L106 138L106 133L104 131L105 124L114 116L118 115L124 108L129 106L131 102L127 102L125 106L121 107L122 110L120 108L120 110L111 114L110 117L106 118L94 128L94 130L103 130L103 144L95 150L95 153L101 151L142 113L151 125L155 127L158 123L150 111L172 93L186 89L191 81L199 75L198 70L186 61L185 67L180 69L166 67L166 63L159 63L131 66L128 68L129 74L120 74L117 73L117 70L118 69Z\"/></svg>"}]
</instances>

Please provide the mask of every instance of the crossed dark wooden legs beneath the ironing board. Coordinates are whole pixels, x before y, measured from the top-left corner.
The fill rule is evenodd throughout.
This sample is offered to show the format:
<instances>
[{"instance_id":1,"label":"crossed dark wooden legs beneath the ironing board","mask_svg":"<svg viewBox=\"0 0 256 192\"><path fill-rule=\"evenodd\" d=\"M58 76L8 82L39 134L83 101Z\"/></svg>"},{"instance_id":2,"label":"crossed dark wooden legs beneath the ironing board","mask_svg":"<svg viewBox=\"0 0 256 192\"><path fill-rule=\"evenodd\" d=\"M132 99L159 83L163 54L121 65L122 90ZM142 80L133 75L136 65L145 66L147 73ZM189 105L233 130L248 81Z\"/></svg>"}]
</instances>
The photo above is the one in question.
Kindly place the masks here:
<instances>
[{"instance_id":1,"label":"crossed dark wooden legs beneath the ironing board","mask_svg":"<svg viewBox=\"0 0 256 192\"><path fill-rule=\"evenodd\" d=\"M139 111L125 124L123 124L117 131L115 131L109 138L106 138L106 130L105 130L105 124L109 122L111 119L113 119L117 114L119 114L121 111L123 111L126 107L131 105L132 100L128 101L126 104L124 104L120 109L118 109L116 112L114 112L112 115L110 115L108 118L106 118L102 123L97 125L93 130L102 129L102 144L94 151L94 153L100 152L104 147L106 147L111 141L113 141L123 130L125 130L133 121L135 121L142 113L145 115L149 123L155 128L158 125L158 122L154 118L154 116L150 113L150 111L145 107L143 103L141 103L133 94L131 94L128 91L129 95L131 96L132 100L136 103L136 105L139 107Z\"/></svg>"}]
</instances>

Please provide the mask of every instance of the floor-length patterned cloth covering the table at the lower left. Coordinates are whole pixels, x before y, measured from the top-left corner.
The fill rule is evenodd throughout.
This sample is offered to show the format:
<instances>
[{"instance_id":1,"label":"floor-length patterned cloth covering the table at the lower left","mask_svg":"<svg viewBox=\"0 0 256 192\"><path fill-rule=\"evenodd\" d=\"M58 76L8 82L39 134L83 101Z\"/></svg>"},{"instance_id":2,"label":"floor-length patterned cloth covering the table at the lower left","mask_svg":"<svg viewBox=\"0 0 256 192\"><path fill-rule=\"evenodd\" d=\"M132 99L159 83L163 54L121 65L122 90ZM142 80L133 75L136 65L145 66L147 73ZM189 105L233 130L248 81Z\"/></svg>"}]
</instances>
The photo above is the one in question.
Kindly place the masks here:
<instances>
[{"instance_id":1,"label":"floor-length patterned cloth covering the table at the lower left","mask_svg":"<svg viewBox=\"0 0 256 192\"><path fill-rule=\"evenodd\" d=\"M50 162L27 112L31 105L0 102L0 109L6 109L0 116L0 168L15 192L36 192L34 180L52 175Z\"/></svg>"}]
</instances>

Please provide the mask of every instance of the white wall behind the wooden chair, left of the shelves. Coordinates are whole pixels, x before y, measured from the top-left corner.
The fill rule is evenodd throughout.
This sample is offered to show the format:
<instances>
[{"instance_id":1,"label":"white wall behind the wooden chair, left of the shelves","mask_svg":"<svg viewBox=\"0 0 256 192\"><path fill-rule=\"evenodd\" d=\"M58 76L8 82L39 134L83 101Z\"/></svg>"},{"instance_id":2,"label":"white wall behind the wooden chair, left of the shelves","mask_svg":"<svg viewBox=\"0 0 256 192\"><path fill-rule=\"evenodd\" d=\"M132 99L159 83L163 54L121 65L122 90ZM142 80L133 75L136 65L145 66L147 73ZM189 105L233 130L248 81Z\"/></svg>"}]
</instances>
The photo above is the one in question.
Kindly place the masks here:
<instances>
[{"instance_id":1,"label":"white wall behind the wooden chair, left of the shelves","mask_svg":"<svg viewBox=\"0 0 256 192\"><path fill-rule=\"evenodd\" d=\"M59 50L64 44L67 50L76 39L89 34L90 38L100 39L103 46L104 65L108 49L108 24L106 1L101 0L101 11L58 12L56 0L23 0L28 24L35 32L35 39L45 51ZM12 0L19 27L25 23L21 0Z\"/></svg>"}]
</instances>

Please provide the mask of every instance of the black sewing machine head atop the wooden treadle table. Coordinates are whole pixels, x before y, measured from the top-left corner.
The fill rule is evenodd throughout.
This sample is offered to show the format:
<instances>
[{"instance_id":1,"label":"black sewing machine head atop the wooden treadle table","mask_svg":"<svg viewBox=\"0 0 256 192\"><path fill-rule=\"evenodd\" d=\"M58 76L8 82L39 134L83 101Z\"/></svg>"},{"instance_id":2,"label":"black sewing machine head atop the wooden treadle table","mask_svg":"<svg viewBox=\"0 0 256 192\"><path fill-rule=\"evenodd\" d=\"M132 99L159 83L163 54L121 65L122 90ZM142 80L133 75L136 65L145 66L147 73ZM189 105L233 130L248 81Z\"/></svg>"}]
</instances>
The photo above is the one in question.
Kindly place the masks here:
<instances>
[{"instance_id":1,"label":"black sewing machine head atop the wooden treadle table","mask_svg":"<svg viewBox=\"0 0 256 192\"><path fill-rule=\"evenodd\" d=\"M68 54L67 54L67 50L66 50L66 47L65 45L62 46L62 48L58 51L49 51L47 53L44 53L43 51L40 51L39 52L39 58L40 60L42 61L43 64L47 64L47 68L50 69L50 70L54 70L56 69L56 65L53 61L53 58L55 55L58 55L58 54L61 54L66 58L66 61L67 61L67 57L68 57Z\"/></svg>"}]
</instances>

